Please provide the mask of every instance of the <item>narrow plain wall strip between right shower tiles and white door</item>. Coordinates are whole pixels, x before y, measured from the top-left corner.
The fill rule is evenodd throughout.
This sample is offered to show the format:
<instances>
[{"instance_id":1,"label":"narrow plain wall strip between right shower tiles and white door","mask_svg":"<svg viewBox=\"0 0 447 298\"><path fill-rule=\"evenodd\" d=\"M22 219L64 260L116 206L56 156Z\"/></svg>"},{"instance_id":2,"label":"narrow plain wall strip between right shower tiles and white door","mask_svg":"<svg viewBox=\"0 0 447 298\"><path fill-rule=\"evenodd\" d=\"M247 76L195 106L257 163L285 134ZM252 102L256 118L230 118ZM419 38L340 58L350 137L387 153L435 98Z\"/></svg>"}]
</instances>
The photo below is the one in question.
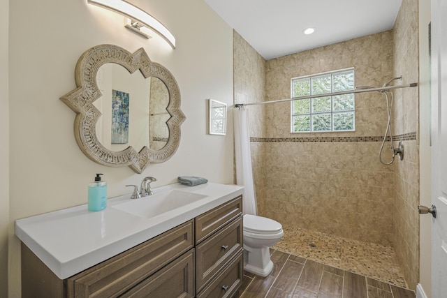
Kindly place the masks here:
<instances>
[{"instance_id":1,"label":"narrow plain wall strip between right shower tiles and white door","mask_svg":"<svg viewBox=\"0 0 447 298\"><path fill-rule=\"evenodd\" d=\"M431 149L430 149L430 61L428 53L428 24L430 0L419 0L419 202L431 206ZM420 216L419 283L427 297L432 297L432 217Z\"/></svg>"}]
</instances>

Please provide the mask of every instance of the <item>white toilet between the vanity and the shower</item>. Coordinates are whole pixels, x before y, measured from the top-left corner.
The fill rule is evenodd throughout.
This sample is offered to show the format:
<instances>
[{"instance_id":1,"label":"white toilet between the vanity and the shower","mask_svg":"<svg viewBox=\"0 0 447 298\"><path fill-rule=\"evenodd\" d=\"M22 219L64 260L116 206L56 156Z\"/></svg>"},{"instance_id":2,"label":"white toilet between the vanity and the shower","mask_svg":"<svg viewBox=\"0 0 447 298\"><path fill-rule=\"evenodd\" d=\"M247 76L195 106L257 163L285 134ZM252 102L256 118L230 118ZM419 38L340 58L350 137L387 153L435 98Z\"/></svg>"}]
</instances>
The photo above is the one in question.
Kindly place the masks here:
<instances>
[{"instance_id":1,"label":"white toilet between the vanity and the shower","mask_svg":"<svg viewBox=\"0 0 447 298\"><path fill-rule=\"evenodd\" d=\"M270 218L245 214L244 270L258 276L268 276L273 269L269 248L283 235L281 223Z\"/></svg>"}]
</instances>

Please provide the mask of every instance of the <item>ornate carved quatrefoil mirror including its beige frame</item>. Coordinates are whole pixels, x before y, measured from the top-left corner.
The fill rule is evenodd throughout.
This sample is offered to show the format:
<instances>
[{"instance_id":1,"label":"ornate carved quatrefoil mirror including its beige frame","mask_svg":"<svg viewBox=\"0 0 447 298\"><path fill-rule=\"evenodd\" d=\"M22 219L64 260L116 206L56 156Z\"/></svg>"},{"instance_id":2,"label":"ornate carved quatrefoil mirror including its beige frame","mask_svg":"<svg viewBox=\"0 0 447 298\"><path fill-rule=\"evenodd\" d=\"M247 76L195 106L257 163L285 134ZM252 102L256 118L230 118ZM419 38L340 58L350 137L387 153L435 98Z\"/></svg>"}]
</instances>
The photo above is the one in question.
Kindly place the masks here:
<instances>
[{"instance_id":1,"label":"ornate carved quatrefoil mirror including its beige frame","mask_svg":"<svg viewBox=\"0 0 447 298\"><path fill-rule=\"evenodd\" d=\"M76 142L88 158L140 174L173 156L185 119L179 87L144 49L132 54L116 45L92 47L76 64L75 82L77 88L60 99L76 112Z\"/></svg>"}]
</instances>

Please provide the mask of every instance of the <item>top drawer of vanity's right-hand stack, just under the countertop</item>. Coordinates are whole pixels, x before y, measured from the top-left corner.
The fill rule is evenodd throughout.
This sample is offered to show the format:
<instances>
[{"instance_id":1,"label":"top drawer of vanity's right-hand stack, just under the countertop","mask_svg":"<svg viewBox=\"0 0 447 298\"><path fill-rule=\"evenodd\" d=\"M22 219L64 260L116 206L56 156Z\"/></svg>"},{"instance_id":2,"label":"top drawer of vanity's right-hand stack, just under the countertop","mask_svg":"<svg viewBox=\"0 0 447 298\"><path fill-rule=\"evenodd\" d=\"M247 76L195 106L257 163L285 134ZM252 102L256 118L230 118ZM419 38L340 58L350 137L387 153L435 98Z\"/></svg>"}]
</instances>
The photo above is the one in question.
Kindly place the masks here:
<instances>
[{"instance_id":1,"label":"top drawer of vanity's right-hand stack, just under the countertop","mask_svg":"<svg viewBox=\"0 0 447 298\"><path fill-rule=\"evenodd\" d=\"M196 217L196 244L242 214L242 195Z\"/></svg>"}]
</instances>

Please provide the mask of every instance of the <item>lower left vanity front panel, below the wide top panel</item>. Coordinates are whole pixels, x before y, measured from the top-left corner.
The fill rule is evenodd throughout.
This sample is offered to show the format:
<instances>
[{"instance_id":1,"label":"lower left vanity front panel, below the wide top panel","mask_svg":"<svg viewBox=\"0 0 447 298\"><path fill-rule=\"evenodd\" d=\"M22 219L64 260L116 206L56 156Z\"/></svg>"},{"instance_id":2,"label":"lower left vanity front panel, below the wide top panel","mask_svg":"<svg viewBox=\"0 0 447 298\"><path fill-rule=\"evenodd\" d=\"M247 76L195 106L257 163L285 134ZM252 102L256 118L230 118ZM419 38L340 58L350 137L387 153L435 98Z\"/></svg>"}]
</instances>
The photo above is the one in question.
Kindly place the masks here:
<instances>
[{"instance_id":1,"label":"lower left vanity front panel, below the wide top panel","mask_svg":"<svg viewBox=\"0 0 447 298\"><path fill-rule=\"evenodd\" d=\"M194 250L191 249L120 297L194 297Z\"/></svg>"}]
</instances>

